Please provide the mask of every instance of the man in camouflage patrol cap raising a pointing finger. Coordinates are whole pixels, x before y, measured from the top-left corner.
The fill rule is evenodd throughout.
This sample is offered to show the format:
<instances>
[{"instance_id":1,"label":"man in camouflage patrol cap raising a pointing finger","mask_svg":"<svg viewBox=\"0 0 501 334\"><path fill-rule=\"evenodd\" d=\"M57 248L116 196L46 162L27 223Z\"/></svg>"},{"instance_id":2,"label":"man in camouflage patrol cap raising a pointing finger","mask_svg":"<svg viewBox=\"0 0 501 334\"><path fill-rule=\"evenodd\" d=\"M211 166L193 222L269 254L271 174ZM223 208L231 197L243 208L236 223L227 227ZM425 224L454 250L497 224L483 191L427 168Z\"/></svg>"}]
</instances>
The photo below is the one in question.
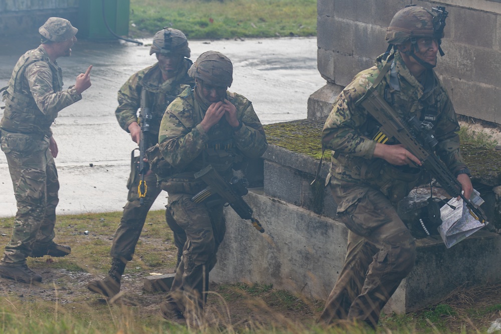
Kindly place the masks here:
<instances>
[{"instance_id":1,"label":"man in camouflage patrol cap raising a pointing finger","mask_svg":"<svg viewBox=\"0 0 501 334\"><path fill-rule=\"evenodd\" d=\"M0 276L21 282L42 281L26 265L26 257L65 256L71 248L56 244L54 225L59 181L54 163L58 148L51 124L65 107L82 99L91 86L90 70L63 90L56 59L71 55L77 29L68 20L49 18L40 27L42 44L25 53L12 73L3 100L0 145L14 185L18 211L12 239L0 262Z\"/></svg>"}]
</instances>

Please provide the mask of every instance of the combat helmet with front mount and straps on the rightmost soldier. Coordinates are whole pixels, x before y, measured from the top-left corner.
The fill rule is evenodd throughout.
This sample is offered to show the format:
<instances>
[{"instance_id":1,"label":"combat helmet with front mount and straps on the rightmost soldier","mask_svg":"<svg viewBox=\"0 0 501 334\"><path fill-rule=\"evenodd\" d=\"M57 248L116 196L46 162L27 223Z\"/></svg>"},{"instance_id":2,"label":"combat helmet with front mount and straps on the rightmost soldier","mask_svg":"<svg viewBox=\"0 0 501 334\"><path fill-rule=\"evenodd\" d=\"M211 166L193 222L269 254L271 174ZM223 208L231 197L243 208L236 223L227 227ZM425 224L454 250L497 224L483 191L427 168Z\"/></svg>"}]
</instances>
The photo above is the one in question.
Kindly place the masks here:
<instances>
[{"instance_id":1,"label":"combat helmet with front mount and straps on the rightmost soldier","mask_svg":"<svg viewBox=\"0 0 501 334\"><path fill-rule=\"evenodd\" d=\"M445 7L432 8L429 11L416 5L409 5L401 9L393 16L390 26L386 29L385 40L389 44L388 51L395 45L407 41L411 42L411 49L414 50L417 39L429 37L438 41L438 51L440 56L443 56L440 44L444 36L443 29L447 15Z\"/></svg>"}]
</instances>

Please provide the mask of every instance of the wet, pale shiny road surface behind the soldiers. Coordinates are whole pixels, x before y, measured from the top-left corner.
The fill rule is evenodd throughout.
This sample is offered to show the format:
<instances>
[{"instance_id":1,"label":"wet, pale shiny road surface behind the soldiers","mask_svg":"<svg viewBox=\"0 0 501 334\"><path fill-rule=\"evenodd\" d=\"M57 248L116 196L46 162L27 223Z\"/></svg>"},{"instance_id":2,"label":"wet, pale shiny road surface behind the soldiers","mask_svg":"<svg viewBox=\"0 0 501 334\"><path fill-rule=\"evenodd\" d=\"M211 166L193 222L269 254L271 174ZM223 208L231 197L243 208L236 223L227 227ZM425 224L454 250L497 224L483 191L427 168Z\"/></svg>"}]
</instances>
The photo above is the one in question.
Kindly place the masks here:
<instances>
[{"instance_id":1,"label":"wet, pale shiny road surface behind the soldiers","mask_svg":"<svg viewBox=\"0 0 501 334\"><path fill-rule=\"evenodd\" d=\"M18 58L38 43L0 42L4 45L0 50L0 87L4 87ZM219 51L231 59L234 79L229 90L252 101L264 124L306 118L308 97L325 84L317 71L316 38L190 41L189 46L193 61L207 50ZM133 73L155 61L154 56L149 56L149 46L87 41L77 42L71 57L58 59L65 88L93 65L92 87L83 93L81 101L60 112L52 126L59 146L58 214L122 209L127 198L130 151L135 143L116 121L117 91ZM13 216L16 202L3 153L0 182L0 217ZM166 197L163 192L152 209L162 209Z\"/></svg>"}]
</instances>

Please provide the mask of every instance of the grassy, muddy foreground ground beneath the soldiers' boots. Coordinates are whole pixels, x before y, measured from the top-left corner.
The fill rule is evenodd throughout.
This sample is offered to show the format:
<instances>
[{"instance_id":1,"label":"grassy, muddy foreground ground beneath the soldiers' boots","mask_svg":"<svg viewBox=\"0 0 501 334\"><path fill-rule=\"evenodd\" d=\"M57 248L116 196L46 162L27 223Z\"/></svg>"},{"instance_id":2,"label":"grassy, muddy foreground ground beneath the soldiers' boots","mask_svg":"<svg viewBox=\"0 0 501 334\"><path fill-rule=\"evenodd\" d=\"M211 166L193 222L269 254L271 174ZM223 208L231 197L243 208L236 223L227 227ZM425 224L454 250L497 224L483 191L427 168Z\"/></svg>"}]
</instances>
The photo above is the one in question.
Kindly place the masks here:
<instances>
[{"instance_id":1,"label":"grassy, muddy foreground ground beneath the soldiers' boots","mask_svg":"<svg viewBox=\"0 0 501 334\"><path fill-rule=\"evenodd\" d=\"M120 212L58 216L56 241L70 244L72 254L64 258L29 258L28 265L44 277L41 285L2 279L0 333L374 332L352 323L320 327L316 320L324 307L323 300L264 283L213 286L207 302L213 316L209 328L193 331L166 323L158 312L165 294L141 290L144 277L150 272L172 272L175 265L177 251L165 241L172 240L172 233L163 222L164 211L148 214L145 229L151 231L155 227L158 232L141 237L122 280L123 299L109 305L90 293L86 283L109 269L110 238L120 216ZM5 220L13 222L14 218ZM82 233L86 230L90 232L87 235ZM5 238L0 241L7 243ZM496 294L499 290L499 285L461 289L441 304L404 315L383 315L376 333L484 332L482 328L501 310ZM483 304L473 304L474 298L480 298ZM474 331L470 331L471 323L475 323Z\"/></svg>"}]
</instances>

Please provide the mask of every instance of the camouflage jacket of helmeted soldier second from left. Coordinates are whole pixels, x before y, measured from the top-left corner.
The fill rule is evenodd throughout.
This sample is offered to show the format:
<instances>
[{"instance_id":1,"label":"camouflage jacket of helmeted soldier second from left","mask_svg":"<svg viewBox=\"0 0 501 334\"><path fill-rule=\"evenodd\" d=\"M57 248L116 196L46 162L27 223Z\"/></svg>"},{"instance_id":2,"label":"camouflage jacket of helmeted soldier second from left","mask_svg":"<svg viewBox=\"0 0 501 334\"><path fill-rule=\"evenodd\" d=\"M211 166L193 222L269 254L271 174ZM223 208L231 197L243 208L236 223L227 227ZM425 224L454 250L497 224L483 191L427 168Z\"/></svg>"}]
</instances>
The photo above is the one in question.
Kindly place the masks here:
<instances>
[{"instance_id":1,"label":"camouflage jacket of helmeted soldier second from left","mask_svg":"<svg viewBox=\"0 0 501 334\"><path fill-rule=\"evenodd\" d=\"M119 105L115 116L122 129L128 132L128 126L132 122L138 122L141 125L141 119L137 117L137 110L141 105L141 91L144 87L148 92L150 104L148 108L153 116L151 136L148 140L150 146L155 145L165 109L186 88L184 85L194 85L193 79L187 74L191 64L189 59L184 58L176 76L165 82L163 82L158 63L132 75L118 91Z\"/></svg>"}]
</instances>

